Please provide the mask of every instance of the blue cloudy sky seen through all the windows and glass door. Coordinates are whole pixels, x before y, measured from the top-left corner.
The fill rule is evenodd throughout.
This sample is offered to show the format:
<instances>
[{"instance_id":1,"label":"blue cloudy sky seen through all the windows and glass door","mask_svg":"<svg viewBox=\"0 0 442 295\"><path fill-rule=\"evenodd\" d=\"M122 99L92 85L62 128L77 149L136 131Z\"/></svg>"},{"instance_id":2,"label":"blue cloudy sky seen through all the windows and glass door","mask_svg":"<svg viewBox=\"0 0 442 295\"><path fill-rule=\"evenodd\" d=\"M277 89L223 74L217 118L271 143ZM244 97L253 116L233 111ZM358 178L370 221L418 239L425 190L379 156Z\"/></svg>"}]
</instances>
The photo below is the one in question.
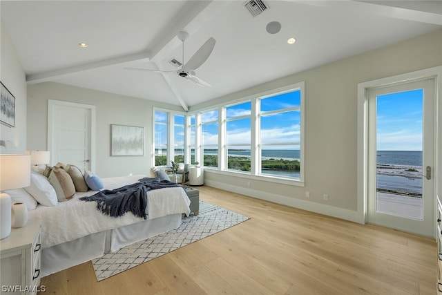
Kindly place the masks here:
<instances>
[{"instance_id":1,"label":"blue cloudy sky seen through all the windows and glass door","mask_svg":"<svg viewBox=\"0 0 442 295\"><path fill-rule=\"evenodd\" d=\"M392 93L377 97L377 150L378 151L421 151L422 150L422 113L423 90ZM277 111L300 105L300 91L275 95L261 100L261 109L265 112ZM250 149L250 113L251 102L236 104L227 108L227 144L229 149ZM157 112L157 121L167 122L166 113ZM203 143L218 144L218 109L204 112L202 122ZM161 117L161 119L160 119ZM177 118L175 117L175 120ZM238 120L235 120L238 119ZM184 120L180 121L184 124ZM175 133L182 129L175 129ZM156 134L157 143L166 142L166 130ZM161 139L160 139L161 137ZM184 141L184 137L180 136ZM299 149L300 111L269 113L261 117L262 143L275 144L263 149ZM213 146L215 148L215 146Z\"/></svg>"}]
</instances>

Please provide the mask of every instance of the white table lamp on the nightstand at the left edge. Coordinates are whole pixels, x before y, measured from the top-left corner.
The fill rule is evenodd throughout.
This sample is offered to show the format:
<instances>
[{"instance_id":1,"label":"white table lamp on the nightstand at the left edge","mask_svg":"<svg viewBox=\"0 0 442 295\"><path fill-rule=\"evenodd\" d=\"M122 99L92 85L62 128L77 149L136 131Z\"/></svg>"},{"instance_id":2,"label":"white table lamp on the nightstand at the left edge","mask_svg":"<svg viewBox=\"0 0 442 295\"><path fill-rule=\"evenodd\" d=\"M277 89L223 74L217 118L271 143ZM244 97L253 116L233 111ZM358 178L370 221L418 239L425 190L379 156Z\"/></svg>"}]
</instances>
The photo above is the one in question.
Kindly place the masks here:
<instances>
[{"instance_id":1,"label":"white table lamp on the nightstand at the left edge","mask_svg":"<svg viewBox=\"0 0 442 295\"><path fill-rule=\"evenodd\" d=\"M11 198L8 189L30 185L30 155L0 155L0 240L11 233Z\"/></svg>"}]
</instances>

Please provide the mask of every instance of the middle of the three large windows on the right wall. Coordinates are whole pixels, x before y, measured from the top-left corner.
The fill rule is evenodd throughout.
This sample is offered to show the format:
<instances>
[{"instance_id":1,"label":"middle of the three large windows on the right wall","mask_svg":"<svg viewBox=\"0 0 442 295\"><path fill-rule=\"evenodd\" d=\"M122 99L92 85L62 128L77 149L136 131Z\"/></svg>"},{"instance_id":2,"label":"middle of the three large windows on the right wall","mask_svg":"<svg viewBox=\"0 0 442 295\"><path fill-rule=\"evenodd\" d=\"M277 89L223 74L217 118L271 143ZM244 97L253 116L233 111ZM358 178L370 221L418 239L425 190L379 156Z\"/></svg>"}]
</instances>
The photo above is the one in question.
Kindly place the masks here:
<instances>
[{"instance_id":1,"label":"middle of the three large windows on the right wall","mask_svg":"<svg viewBox=\"0 0 442 295\"><path fill-rule=\"evenodd\" d=\"M250 172L251 102L226 108L227 169Z\"/></svg>"}]
</instances>

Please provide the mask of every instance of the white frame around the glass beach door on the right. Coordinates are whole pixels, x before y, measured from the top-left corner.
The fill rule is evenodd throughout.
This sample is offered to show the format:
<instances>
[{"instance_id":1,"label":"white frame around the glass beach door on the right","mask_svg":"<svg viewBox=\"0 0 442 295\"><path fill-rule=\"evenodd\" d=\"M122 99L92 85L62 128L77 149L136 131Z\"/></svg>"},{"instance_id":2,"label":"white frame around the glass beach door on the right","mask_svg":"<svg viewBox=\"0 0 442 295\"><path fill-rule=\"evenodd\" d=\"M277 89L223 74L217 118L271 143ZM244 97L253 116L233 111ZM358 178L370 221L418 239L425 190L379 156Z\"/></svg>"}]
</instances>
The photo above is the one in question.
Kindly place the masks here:
<instances>
[{"instance_id":1,"label":"white frame around the glass beach door on the right","mask_svg":"<svg viewBox=\"0 0 442 295\"><path fill-rule=\"evenodd\" d=\"M438 137L439 130L442 131L442 122L439 113L442 109L442 99L440 97L442 90L442 66L434 68L426 68L424 70L417 70L412 73L405 73L392 77L385 77L369 82L358 84L358 122L357 122L357 218L358 222L365 224L368 220L368 104L367 91L370 88L380 86L402 84L405 82L414 82L421 79L434 78L434 195L440 195L439 187L439 172L441 167L442 155L438 154L438 147L442 148L442 137ZM439 157L439 158L438 158ZM442 173L441 173L442 174ZM433 200L434 212L436 209L436 198ZM435 215L434 215L435 216ZM436 236L436 222L433 224L433 237Z\"/></svg>"}]
</instances>

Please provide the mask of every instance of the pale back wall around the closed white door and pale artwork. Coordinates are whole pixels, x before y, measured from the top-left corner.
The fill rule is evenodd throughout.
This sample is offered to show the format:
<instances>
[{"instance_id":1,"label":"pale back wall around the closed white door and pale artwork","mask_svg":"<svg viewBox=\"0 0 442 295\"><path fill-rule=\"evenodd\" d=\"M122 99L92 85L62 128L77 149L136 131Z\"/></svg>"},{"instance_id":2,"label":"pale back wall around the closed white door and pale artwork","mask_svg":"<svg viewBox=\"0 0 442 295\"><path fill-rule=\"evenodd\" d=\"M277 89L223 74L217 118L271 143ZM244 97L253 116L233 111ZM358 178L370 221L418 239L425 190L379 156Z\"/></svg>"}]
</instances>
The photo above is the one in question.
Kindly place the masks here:
<instances>
[{"instance_id":1,"label":"pale back wall around the closed white door and pale artwork","mask_svg":"<svg viewBox=\"0 0 442 295\"><path fill-rule=\"evenodd\" d=\"M171 106L53 82L28 85L28 149L48 149L48 99L96 108L95 166L100 177L148 174L152 165L152 108ZM111 124L142 126L144 156L111 157Z\"/></svg>"}]
</instances>

